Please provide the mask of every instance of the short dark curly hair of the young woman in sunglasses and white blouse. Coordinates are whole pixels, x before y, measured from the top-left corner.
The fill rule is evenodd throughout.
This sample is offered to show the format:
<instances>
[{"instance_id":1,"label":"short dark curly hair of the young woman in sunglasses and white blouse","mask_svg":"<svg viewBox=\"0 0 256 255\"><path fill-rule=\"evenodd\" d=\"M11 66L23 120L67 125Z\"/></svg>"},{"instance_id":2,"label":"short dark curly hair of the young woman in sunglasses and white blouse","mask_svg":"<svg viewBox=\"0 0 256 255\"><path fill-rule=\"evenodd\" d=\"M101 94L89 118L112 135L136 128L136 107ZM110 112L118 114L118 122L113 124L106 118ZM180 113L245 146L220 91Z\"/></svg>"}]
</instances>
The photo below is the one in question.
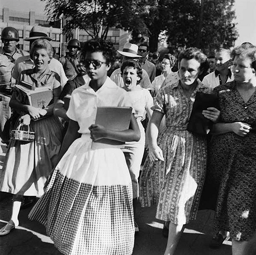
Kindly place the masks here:
<instances>
[{"instance_id":1,"label":"short dark curly hair of the young woman in sunglasses and white blouse","mask_svg":"<svg viewBox=\"0 0 256 255\"><path fill-rule=\"evenodd\" d=\"M112 42L103 39L92 39L84 43L81 50L81 61L86 58L87 52L102 52L107 64L115 62L116 50Z\"/></svg>"}]
</instances>

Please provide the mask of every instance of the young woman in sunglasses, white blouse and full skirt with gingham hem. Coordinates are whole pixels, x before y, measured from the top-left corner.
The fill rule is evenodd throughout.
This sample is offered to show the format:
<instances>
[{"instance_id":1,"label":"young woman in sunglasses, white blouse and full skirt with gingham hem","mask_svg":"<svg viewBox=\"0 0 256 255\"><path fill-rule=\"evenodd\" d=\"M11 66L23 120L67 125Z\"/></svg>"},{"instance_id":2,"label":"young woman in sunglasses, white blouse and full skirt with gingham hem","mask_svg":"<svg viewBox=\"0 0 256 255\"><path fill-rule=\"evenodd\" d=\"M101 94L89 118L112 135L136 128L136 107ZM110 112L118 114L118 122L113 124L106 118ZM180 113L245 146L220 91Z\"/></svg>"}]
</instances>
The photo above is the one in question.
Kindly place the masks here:
<instances>
[{"instance_id":1,"label":"young woman in sunglasses, white blouse and full skirt with gingham hem","mask_svg":"<svg viewBox=\"0 0 256 255\"><path fill-rule=\"evenodd\" d=\"M112 43L88 41L82 55L91 81L72 93L61 160L29 218L45 225L54 245L65 255L131 255L132 185L124 153L104 144L92 149L92 141L138 141L140 131L133 115L125 131L94 124L97 107L130 107L131 103L127 92L107 77L115 60Z\"/></svg>"}]
</instances>

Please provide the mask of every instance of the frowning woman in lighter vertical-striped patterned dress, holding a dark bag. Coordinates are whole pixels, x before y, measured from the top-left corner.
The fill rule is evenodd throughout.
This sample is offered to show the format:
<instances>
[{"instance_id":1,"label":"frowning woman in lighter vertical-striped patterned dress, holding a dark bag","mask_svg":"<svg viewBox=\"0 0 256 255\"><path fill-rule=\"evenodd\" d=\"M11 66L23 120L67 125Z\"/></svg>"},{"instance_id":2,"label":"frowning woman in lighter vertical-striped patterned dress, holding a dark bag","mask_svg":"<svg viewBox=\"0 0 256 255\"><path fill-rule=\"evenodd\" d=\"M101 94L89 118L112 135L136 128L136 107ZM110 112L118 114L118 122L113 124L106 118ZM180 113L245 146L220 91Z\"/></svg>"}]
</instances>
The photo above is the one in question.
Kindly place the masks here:
<instances>
[{"instance_id":1,"label":"frowning woman in lighter vertical-striped patterned dress, holding a dark bag","mask_svg":"<svg viewBox=\"0 0 256 255\"><path fill-rule=\"evenodd\" d=\"M210 93L198 79L207 57L188 48L178 57L180 80L161 88L148 125L149 155L141 179L143 207L157 203L156 217L169 222L165 255L174 254L183 225L196 218L206 173L206 138L187 131L196 92ZM202 113L216 121L219 111L210 107ZM166 127L159 125L166 115Z\"/></svg>"}]
</instances>

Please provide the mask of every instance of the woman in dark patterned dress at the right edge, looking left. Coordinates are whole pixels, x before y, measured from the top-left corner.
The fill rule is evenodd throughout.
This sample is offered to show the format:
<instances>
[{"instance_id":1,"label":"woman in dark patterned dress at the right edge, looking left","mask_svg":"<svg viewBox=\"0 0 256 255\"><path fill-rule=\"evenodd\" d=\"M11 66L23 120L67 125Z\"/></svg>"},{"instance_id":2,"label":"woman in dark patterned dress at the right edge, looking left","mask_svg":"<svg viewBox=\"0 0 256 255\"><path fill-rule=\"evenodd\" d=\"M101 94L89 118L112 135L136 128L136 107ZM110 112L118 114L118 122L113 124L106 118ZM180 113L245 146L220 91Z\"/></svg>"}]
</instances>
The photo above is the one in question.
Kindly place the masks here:
<instances>
[{"instance_id":1,"label":"woman in dark patterned dress at the right edge, looking left","mask_svg":"<svg viewBox=\"0 0 256 255\"><path fill-rule=\"evenodd\" d=\"M234 81L214 88L221 116L209 174L220 184L214 228L230 232L232 254L240 255L256 230L256 47L241 45L232 54Z\"/></svg>"}]
</instances>

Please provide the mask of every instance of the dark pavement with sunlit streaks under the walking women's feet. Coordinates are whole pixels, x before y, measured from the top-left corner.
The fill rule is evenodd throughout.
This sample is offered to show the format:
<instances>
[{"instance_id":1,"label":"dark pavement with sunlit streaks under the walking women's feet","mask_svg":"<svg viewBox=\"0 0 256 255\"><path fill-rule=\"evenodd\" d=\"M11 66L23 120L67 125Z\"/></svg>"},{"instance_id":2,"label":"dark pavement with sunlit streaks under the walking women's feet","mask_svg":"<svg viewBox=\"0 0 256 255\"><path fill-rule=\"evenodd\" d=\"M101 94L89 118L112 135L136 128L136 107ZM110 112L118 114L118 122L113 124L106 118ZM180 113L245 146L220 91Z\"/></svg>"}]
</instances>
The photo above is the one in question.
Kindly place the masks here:
<instances>
[{"instance_id":1,"label":"dark pavement with sunlit streaks under the walking women's feet","mask_svg":"<svg viewBox=\"0 0 256 255\"><path fill-rule=\"evenodd\" d=\"M5 146L0 144L0 171L3 165ZM0 194L3 198L3 195ZM11 196L0 202L0 227L4 226L11 214ZM1 255L61 255L45 228L38 222L31 222L27 215L31 208L21 210L20 226L6 236L0 236ZM138 208L140 232L135 235L133 255L162 255L167 239L162 236L163 223L155 218L156 206ZM198 212L197 220L187 224L181 235L175 255L231 255L231 242L225 241L219 249L209 248L214 235L213 212Z\"/></svg>"}]
</instances>

